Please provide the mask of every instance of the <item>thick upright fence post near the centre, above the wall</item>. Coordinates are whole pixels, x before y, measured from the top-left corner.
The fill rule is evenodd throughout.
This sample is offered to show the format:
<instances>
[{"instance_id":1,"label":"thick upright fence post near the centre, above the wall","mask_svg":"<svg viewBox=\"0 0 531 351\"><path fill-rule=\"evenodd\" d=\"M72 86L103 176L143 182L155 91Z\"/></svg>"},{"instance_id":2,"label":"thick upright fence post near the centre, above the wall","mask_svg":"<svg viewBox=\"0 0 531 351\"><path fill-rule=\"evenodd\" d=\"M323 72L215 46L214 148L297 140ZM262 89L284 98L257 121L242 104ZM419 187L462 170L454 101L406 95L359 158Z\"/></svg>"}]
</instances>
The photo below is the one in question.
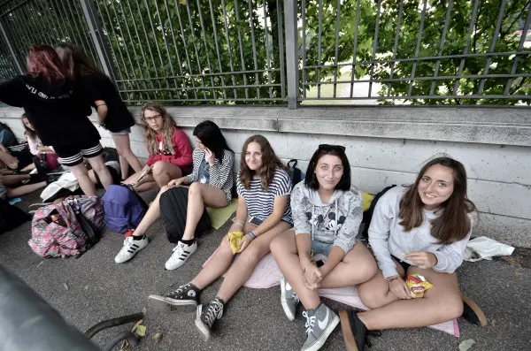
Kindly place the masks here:
<instances>
[{"instance_id":1,"label":"thick upright fence post near the centre, above the wall","mask_svg":"<svg viewBox=\"0 0 531 351\"><path fill-rule=\"evenodd\" d=\"M284 1L286 25L286 76L288 81L288 108L295 110L299 96L298 33L296 31L296 0Z\"/></svg>"}]
</instances>

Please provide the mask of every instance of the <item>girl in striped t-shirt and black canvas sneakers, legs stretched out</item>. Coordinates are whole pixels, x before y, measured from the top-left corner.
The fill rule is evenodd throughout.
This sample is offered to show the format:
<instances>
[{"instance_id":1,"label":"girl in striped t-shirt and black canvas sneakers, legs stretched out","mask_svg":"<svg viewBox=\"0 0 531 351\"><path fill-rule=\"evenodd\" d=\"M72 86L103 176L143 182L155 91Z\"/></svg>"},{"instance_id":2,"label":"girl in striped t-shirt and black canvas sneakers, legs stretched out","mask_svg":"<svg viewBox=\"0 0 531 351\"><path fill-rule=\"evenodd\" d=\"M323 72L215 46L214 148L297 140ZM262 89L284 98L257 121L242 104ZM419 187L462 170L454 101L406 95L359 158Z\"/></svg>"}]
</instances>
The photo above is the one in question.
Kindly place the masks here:
<instances>
[{"instance_id":1,"label":"girl in striped t-shirt and black canvas sneakers, legs stretched out","mask_svg":"<svg viewBox=\"0 0 531 351\"><path fill-rule=\"evenodd\" d=\"M212 324L223 316L225 303L249 279L263 256L269 253L274 237L292 226L289 195L291 180L281 160L275 155L269 141L262 135L253 135L243 144L240 172L237 179L238 208L229 233L246 233L237 244L235 253L226 235L212 260L188 284L165 295L150 295L155 308L196 309L196 327L210 338ZM199 294L225 274L215 299L198 305Z\"/></svg>"}]
</instances>

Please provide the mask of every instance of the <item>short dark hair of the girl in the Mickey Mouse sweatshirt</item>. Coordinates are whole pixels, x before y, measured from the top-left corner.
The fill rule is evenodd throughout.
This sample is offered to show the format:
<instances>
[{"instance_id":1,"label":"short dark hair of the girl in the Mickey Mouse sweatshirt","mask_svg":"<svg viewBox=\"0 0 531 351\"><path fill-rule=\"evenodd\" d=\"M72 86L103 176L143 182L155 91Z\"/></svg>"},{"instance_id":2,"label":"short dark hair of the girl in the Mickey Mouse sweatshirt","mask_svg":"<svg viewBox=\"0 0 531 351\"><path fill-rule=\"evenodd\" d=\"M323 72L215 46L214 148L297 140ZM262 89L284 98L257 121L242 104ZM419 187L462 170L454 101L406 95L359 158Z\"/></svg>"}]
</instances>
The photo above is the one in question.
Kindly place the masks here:
<instances>
[{"instance_id":1,"label":"short dark hair of the girl in the Mickey Mouse sweatshirt","mask_svg":"<svg viewBox=\"0 0 531 351\"><path fill-rule=\"evenodd\" d=\"M315 150L308 169L306 170L306 177L304 178L304 185L313 190L319 189L319 181L315 175L315 168L319 162L319 159L325 155L338 156L341 159L343 166L343 174L339 183L335 186L335 190L347 191L350 190L350 163L349 158L345 155L343 147L335 145L319 145L319 148Z\"/></svg>"}]
</instances>

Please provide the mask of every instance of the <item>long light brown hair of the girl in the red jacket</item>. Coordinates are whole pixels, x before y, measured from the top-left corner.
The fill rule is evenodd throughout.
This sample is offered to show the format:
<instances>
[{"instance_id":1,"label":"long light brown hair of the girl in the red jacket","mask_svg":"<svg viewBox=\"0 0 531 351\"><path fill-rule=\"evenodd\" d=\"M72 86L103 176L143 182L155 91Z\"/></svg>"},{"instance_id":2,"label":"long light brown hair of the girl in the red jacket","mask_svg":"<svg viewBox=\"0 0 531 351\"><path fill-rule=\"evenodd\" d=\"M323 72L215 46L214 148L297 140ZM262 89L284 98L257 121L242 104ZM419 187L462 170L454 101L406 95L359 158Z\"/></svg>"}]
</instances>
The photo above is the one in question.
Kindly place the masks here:
<instances>
[{"instance_id":1,"label":"long light brown hair of the girl in the red jacket","mask_svg":"<svg viewBox=\"0 0 531 351\"><path fill-rule=\"evenodd\" d=\"M146 118L144 116L144 111L150 110L158 112L162 116L163 125L162 125L162 140L164 141L164 146L166 149L169 149L172 152L172 155L175 154L173 149L173 129L177 126L173 121L173 118L165 110L164 106L158 103L145 103L142 106L142 111L140 112L140 119L142 120L142 126L144 127L144 137L146 139L146 145L148 151L151 155L157 155L158 145L157 145L157 132L151 129Z\"/></svg>"}]
</instances>

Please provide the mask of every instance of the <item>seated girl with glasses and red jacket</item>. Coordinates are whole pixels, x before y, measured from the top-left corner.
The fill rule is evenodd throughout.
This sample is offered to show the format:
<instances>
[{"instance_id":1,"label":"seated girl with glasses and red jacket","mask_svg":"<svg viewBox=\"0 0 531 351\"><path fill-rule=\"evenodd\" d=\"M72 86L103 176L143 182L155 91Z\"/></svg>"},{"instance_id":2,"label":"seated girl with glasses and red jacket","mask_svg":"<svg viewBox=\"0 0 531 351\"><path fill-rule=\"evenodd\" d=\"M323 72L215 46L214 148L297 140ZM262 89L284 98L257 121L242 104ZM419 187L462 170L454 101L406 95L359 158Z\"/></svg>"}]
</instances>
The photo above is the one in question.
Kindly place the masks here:
<instances>
[{"instance_id":1,"label":"seated girl with glasses and red jacket","mask_svg":"<svg viewBox=\"0 0 531 351\"><path fill-rule=\"evenodd\" d=\"M141 172L124 183L135 184L139 192L164 187L170 180L181 178L192 170L192 147L188 136L177 127L173 118L158 103L146 103L140 114L146 146L150 156ZM142 172L149 174L138 182Z\"/></svg>"}]
</instances>

